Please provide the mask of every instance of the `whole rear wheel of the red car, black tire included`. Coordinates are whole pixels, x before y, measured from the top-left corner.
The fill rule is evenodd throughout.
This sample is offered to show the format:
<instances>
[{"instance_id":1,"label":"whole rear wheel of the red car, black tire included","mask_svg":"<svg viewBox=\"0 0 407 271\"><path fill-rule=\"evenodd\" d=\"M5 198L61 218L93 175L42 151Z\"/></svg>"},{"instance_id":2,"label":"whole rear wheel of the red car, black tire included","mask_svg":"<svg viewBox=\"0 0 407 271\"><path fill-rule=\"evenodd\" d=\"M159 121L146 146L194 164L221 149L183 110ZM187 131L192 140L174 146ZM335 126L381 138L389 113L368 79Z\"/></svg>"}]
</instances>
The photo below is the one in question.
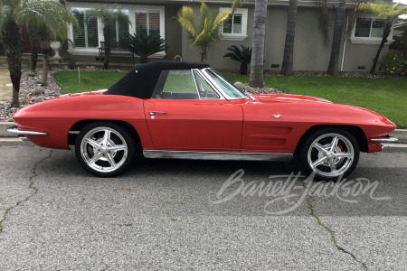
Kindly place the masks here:
<instances>
[{"instance_id":1,"label":"whole rear wheel of the red car, black tire included","mask_svg":"<svg viewBox=\"0 0 407 271\"><path fill-rule=\"evenodd\" d=\"M128 130L114 123L95 122L80 131L75 154L89 173L112 177L132 164L136 146Z\"/></svg>"}]
</instances>

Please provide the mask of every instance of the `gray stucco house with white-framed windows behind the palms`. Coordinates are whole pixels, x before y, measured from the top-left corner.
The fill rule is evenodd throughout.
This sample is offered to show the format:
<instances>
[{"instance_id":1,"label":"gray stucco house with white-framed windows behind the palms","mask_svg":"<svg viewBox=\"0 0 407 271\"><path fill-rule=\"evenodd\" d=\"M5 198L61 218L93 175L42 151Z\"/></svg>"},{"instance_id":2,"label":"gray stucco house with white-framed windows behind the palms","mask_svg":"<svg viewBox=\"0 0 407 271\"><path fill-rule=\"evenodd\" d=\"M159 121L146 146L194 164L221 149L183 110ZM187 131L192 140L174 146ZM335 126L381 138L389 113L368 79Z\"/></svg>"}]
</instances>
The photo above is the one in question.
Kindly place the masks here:
<instances>
[{"instance_id":1,"label":"gray stucco house with white-framed windows behind the palms","mask_svg":"<svg viewBox=\"0 0 407 271\"><path fill-rule=\"evenodd\" d=\"M79 18L82 32L70 30L69 38L74 43L70 49L72 55L81 61L95 61L99 56L99 44L103 42L102 25L98 20L87 19L87 9L103 5L116 8L115 1L89 0L66 1L66 7ZM191 48L188 34L176 22L176 14L182 5L193 7L194 14L199 14L200 2L196 0L122 0L120 8L128 14L130 23L116 23L112 26L116 41L123 33L159 33L170 46L151 56L152 59L174 60L181 57L183 61L200 61L200 49ZM206 1L213 13L222 8L228 8L232 0ZM287 26L288 0L269 0L266 44L264 55L265 70L280 70ZM298 15L294 47L294 70L320 71L327 70L333 28L335 23L336 2L329 2L329 33L327 42L324 42L318 29L318 8L316 1L298 0ZM350 4L346 9L346 18L350 14ZM223 41L215 44L208 50L207 62L215 69L238 70L239 63L223 58L227 47L243 44L251 47L253 38L254 0L247 0L232 19L220 27ZM382 40L384 23L372 14L361 14L352 29L341 41L340 70L342 71L368 71L370 70L374 55ZM393 32L383 52L393 42ZM382 53L383 53L382 52ZM179 56L179 57L178 57ZM126 51L113 51L112 61L131 62L131 56Z\"/></svg>"}]
</instances>

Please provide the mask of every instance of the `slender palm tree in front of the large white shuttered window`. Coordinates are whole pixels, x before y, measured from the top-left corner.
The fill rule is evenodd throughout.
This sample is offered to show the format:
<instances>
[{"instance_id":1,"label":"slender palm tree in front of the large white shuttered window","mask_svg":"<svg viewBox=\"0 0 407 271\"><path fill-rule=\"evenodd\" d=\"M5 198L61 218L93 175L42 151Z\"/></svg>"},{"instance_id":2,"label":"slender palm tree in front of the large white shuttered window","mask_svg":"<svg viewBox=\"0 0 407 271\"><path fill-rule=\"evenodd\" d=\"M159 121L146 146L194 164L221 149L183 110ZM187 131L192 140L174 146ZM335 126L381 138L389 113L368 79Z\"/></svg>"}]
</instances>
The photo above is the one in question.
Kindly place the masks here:
<instances>
[{"instance_id":1,"label":"slender palm tree in front of the large white shuttered window","mask_svg":"<svg viewBox=\"0 0 407 271\"><path fill-rule=\"evenodd\" d=\"M103 38L105 40L105 57L103 61L103 69L109 69L109 58L112 44L112 37L110 33L110 25L119 23L129 23L128 14L123 13L120 8L109 9L106 6L101 8L90 9L88 21L99 18L99 21L103 23Z\"/></svg>"}]
</instances>

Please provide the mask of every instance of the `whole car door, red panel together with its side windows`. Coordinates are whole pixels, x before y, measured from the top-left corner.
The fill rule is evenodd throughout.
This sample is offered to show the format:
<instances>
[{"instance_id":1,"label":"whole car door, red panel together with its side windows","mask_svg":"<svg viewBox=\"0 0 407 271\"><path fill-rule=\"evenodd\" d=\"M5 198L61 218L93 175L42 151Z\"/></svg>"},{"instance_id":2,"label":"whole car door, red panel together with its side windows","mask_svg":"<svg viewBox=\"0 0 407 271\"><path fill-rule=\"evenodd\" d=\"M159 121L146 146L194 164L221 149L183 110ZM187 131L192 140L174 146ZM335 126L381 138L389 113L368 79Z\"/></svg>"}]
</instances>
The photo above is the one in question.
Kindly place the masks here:
<instances>
[{"instance_id":1,"label":"whole car door, red panel together with its side windows","mask_svg":"<svg viewBox=\"0 0 407 271\"><path fill-rule=\"evenodd\" d=\"M163 71L144 109L156 150L241 150L241 106L222 98L197 70Z\"/></svg>"}]
</instances>

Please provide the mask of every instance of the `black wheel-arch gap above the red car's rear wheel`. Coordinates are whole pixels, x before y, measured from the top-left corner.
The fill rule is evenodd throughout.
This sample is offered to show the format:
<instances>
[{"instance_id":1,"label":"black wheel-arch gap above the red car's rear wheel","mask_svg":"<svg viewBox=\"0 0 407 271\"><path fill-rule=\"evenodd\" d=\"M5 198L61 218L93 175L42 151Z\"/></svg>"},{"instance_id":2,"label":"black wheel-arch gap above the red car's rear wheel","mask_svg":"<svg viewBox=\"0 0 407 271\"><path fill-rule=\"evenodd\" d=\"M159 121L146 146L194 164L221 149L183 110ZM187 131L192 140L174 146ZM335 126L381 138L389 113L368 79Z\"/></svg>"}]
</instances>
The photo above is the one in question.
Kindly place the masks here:
<instances>
[{"instance_id":1,"label":"black wheel-arch gap above the red car's rear wheel","mask_svg":"<svg viewBox=\"0 0 407 271\"><path fill-rule=\"evenodd\" d=\"M68 134L68 145L75 145L76 138L78 137L80 131L85 127L89 126L92 123L95 122L105 122L105 123L114 123L118 126L121 126L125 128L130 135L133 135L133 138L135 139L135 144L137 147L137 153L142 152L142 145L141 145L141 140L140 136L137 133L137 130L134 126L130 125L126 121L122 120L106 120L106 119L84 119L76 122L73 126L71 126L71 129Z\"/></svg>"}]
</instances>

